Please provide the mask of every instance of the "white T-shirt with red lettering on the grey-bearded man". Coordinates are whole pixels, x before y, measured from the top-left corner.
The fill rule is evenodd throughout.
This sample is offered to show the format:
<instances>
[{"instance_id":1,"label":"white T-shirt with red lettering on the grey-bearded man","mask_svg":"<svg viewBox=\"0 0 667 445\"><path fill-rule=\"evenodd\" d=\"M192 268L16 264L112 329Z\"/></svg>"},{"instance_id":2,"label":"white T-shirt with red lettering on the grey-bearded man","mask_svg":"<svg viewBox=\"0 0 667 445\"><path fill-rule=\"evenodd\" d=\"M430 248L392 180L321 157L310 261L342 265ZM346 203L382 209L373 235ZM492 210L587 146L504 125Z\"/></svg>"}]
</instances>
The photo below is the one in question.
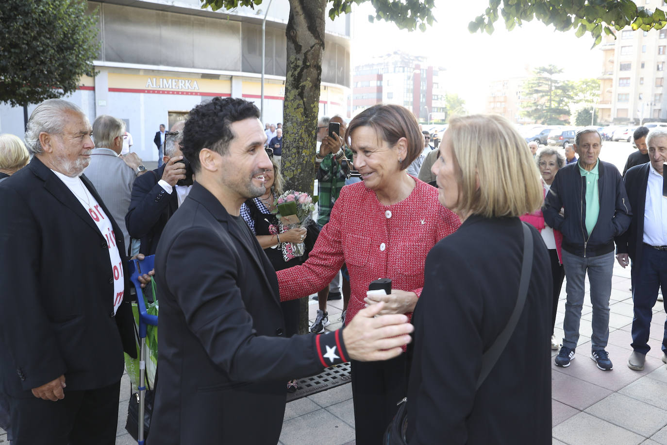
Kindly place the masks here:
<instances>
[{"instance_id":1,"label":"white T-shirt with red lettering on the grey-bearded man","mask_svg":"<svg viewBox=\"0 0 667 445\"><path fill-rule=\"evenodd\" d=\"M116 236L113 233L113 226L111 220L102 210L101 205L97 202L92 193L81 181L81 177L69 177L51 170L57 177L63 181L67 188L79 200L83 208L88 212L90 217L95 222L99 233L107 240L107 248L109 250L109 266L111 266L111 273L113 274L113 313L115 314L123 302L123 293L125 292L125 279L123 278L123 262L121 260L118 246L116 246Z\"/></svg>"}]
</instances>

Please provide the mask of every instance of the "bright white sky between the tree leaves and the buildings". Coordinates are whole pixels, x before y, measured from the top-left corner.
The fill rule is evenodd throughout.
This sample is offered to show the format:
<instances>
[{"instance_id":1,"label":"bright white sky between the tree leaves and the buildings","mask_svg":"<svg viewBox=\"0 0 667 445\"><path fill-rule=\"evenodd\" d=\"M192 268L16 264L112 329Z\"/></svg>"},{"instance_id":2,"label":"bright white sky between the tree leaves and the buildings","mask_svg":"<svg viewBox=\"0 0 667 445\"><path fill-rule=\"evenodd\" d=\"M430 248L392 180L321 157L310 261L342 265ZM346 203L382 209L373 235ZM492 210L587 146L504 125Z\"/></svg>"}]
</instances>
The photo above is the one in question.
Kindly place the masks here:
<instances>
[{"instance_id":1,"label":"bright white sky between the tree leaves and the buildings","mask_svg":"<svg viewBox=\"0 0 667 445\"><path fill-rule=\"evenodd\" d=\"M491 81L530 75L538 66L561 67L561 78L570 80L602 71L602 51L591 49L590 34L577 38L574 29L556 31L537 20L507 31L502 18L492 35L471 34L468 23L484 13L488 0L438 0L437 5L436 23L424 33L411 33L393 23L369 23L375 10L362 3L353 14L352 65L396 50L426 56L429 65L446 69L446 91L463 97L470 112L484 111Z\"/></svg>"}]
</instances>

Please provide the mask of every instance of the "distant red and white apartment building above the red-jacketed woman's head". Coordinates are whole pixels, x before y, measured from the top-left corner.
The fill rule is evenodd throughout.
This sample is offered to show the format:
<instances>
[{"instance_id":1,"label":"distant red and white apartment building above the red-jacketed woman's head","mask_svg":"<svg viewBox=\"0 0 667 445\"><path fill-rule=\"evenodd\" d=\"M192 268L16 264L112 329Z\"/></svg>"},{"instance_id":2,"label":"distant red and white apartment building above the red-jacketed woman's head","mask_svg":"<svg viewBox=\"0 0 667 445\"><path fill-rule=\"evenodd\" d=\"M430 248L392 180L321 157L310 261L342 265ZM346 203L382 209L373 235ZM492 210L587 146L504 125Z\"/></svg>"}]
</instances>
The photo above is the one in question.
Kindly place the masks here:
<instances>
[{"instance_id":1,"label":"distant red and white apartment building above the red-jacketed woman's head","mask_svg":"<svg viewBox=\"0 0 667 445\"><path fill-rule=\"evenodd\" d=\"M374 57L353 70L352 114L376 103L395 103L423 121L444 119L441 71L428 65L426 57L402 51Z\"/></svg>"}]
</instances>

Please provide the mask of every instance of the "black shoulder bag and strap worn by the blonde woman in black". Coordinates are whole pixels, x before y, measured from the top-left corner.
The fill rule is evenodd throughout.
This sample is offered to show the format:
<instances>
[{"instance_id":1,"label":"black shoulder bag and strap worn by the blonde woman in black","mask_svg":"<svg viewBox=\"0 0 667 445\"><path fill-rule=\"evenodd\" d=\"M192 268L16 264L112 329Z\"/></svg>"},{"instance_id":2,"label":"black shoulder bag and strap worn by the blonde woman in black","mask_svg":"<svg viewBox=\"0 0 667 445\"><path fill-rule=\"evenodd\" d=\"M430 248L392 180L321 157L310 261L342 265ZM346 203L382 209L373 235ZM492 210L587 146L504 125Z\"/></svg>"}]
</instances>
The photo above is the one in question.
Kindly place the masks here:
<instances>
[{"instance_id":1,"label":"black shoulder bag and strap worn by the blonde woman in black","mask_svg":"<svg viewBox=\"0 0 667 445\"><path fill-rule=\"evenodd\" d=\"M521 317L521 313L524 310L524 304L526 303L526 294L528 294L528 282L530 281L530 274L533 268L533 236L530 233L528 224L525 222L522 224L524 229L524 258L522 259L521 264L521 280L519 282L519 295L516 299L516 304L514 304L514 310L508 320L505 328L500 332L498 338L494 344L491 345L484 356L482 356L482 370L480 371L480 377L477 380L476 390L482 386L484 380L489 375L491 370L494 368L500 354L502 354L505 346L510 341L510 337L514 333L514 328ZM531 260L528 261L528 258ZM408 445L406 434L408 432L408 398L403 398L398 402L398 411L392 419L392 422L387 427L387 430L384 432L384 440L382 443L384 445Z\"/></svg>"}]
</instances>

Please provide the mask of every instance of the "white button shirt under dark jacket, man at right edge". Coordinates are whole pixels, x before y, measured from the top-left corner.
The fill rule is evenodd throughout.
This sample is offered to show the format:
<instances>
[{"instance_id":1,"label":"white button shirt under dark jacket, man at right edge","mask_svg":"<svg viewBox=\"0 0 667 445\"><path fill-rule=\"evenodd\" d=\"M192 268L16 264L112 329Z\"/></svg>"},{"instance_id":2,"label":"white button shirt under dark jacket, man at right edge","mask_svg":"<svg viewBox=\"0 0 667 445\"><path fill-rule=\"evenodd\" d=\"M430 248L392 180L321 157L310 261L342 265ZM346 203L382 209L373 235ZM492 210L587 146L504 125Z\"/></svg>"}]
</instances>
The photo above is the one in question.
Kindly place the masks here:
<instances>
[{"instance_id":1,"label":"white button shirt under dark jacket, man at right edge","mask_svg":"<svg viewBox=\"0 0 667 445\"><path fill-rule=\"evenodd\" d=\"M642 241L651 246L667 246L667 198L662 197L662 180L662 175L649 163Z\"/></svg>"}]
</instances>

